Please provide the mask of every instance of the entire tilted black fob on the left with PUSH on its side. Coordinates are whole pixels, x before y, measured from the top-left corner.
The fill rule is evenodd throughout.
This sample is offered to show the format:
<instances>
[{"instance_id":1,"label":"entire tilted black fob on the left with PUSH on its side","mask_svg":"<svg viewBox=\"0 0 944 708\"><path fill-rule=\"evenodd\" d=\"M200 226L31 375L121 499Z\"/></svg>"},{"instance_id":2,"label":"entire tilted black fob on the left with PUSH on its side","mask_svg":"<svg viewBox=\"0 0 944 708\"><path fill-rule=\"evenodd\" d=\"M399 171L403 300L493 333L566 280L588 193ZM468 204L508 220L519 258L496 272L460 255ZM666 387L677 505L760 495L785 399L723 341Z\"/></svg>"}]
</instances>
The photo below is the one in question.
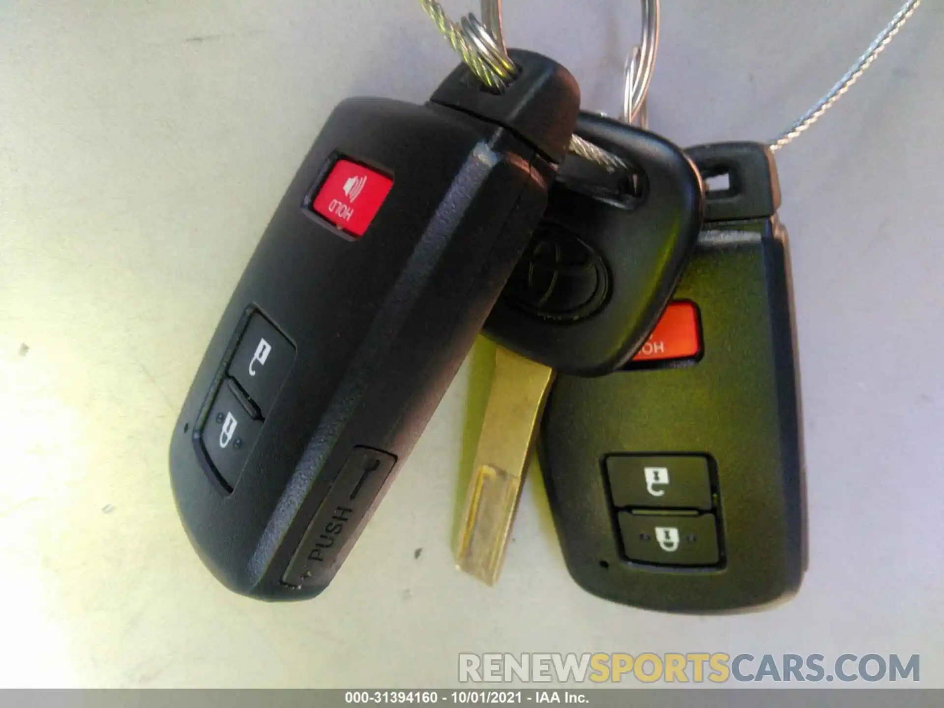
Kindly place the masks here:
<instances>
[{"instance_id":1,"label":"entire tilted black fob on the left with PUSH on its side","mask_svg":"<svg viewBox=\"0 0 944 708\"><path fill-rule=\"evenodd\" d=\"M236 286L170 451L184 526L232 590L328 586L528 244L580 95L512 57L500 95L461 65L425 106L339 105Z\"/></svg>"}]
</instances>

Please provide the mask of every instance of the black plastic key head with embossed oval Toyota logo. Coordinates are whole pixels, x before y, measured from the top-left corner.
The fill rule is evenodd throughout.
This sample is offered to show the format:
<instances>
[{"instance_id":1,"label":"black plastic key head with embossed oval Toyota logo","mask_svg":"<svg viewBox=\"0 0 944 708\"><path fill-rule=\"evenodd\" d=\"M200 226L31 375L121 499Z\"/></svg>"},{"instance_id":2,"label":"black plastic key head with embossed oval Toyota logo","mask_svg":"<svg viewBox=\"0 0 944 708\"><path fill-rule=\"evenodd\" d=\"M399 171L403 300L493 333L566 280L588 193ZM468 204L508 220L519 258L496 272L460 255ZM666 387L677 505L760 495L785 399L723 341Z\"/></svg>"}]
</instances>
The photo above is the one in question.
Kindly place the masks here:
<instances>
[{"instance_id":1,"label":"black plastic key head with embossed oval Toyota logo","mask_svg":"<svg viewBox=\"0 0 944 708\"><path fill-rule=\"evenodd\" d=\"M664 138L581 113L576 132L629 174L569 156L548 211L485 323L498 344L565 374L626 363L665 309L698 239L698 170Z\"/></svg>"}]
</instances>

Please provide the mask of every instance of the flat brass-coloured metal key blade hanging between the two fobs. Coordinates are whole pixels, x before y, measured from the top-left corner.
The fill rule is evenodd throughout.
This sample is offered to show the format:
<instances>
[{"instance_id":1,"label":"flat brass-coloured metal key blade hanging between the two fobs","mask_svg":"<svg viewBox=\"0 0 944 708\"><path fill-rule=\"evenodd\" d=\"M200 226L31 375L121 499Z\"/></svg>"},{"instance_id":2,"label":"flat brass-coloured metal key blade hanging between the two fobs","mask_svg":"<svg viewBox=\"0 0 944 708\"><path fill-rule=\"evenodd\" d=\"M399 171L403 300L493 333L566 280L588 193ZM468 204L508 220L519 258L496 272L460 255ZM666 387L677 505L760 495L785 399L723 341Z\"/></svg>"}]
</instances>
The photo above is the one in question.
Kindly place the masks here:
<instances>
[{"instance_id":1,"label":"flat brass-coloured metal key blade hanging between the two fobs","mask_svg":"<svg viewBox=\"0 0 944 708\"><path fill-rule=\"evenodd\" d=\"M456 544L456 565L489 585L501 573L553 373L502 346L496 348L495 374Z\"/></svg>"}]
</instances>

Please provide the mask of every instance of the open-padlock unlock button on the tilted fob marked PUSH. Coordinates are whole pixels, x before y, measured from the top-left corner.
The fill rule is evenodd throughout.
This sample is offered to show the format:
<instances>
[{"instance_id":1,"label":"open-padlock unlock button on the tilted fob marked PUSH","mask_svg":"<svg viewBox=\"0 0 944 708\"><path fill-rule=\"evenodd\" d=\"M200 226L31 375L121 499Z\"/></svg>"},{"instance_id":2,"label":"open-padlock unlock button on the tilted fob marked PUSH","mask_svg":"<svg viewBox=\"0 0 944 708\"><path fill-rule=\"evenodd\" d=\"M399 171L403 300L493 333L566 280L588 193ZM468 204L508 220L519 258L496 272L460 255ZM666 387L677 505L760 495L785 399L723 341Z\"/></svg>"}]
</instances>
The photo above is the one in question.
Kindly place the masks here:
<instances>
[{"instance_id":1,"label":"open-padlock unlock button on the tilted fob marked PUSH","mask_svg":"<svg viewBox=\"0 0 944 708\"><path fill-rule=\"evenodd\" d=\"M267 417L294 360L292 343L256 312L229 362L229 376L252 398L262 417Z\"/></svg>"}]
</instances>

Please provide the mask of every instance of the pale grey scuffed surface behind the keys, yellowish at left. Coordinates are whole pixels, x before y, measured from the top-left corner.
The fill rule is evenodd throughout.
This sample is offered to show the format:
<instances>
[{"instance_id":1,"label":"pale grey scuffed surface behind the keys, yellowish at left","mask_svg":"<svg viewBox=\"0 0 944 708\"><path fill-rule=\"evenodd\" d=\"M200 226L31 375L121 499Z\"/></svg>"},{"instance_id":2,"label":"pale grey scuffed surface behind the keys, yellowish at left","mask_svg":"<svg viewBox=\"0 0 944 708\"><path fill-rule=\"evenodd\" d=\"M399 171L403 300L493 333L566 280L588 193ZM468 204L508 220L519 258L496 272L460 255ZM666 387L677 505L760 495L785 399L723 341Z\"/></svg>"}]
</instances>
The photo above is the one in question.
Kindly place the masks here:
<instances>
[{"instance_id":1,"label":"pale grey scuffed surface behind the keys, yellowish at left","mask_svg":"<svg viewBox=\"0 0 944 708\"><path fill-rule=\"evenodd\" d=\"M615 113L636 3L505 5L512 44ZM667 2L652 126L771 136L897 5ZM797 598L724 617L593 598L533 480L497 589L455 572L465 367L329 592L276 606L228 594L189 547L169 429L329 110L424 100L454 60L412 0L0 3L0 684L444 686L459 651L875 651L921 653L922 685L944 687L942 29L926 2L781 154L811 534Z\"/></svg>"}]
</instances>

